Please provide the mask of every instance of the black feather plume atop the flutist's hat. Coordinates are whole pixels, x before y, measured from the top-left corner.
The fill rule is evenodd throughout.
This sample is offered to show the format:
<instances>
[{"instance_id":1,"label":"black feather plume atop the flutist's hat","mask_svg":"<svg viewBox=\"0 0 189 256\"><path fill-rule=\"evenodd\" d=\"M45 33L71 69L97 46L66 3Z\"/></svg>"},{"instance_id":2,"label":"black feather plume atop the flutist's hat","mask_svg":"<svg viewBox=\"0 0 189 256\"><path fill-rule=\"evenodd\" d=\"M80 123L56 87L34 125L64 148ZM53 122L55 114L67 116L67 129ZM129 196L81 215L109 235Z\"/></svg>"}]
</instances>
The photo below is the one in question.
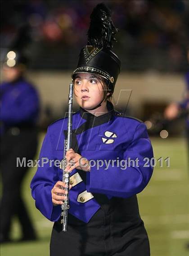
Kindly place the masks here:
<instances>
[{"instance_id":1,"label":"black feather plume atop the flutist's hat","mask_svg":"<svg viewBox=\"0 0 189 256\"><path fill-rule=\"evenodd\" d=\"M112 41L116 41L114 36L117 32L110 10L103 3L98 4L90 14L87 44L99 49L112 49Z\"/></svg>"}]
</instances>

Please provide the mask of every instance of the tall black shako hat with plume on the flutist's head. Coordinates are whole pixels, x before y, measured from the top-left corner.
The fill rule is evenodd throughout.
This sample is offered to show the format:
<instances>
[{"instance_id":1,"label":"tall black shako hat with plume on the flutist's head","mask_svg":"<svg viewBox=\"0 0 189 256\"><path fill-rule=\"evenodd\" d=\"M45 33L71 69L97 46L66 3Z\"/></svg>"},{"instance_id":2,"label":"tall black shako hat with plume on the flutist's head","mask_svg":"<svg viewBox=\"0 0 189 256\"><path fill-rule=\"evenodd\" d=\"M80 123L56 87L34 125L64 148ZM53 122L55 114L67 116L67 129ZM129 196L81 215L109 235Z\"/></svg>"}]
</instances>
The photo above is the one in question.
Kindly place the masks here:
<instances>
[{"instance_id":1,"label":"tall black shako hat with plume on the flutist's head","mask_svg":"<svg viewBox=\"0 0 189 256\"><path fill-rule=\"evenodd\" d=\"M87 45L81 49L72 78L76 73L97 74L107 79L113 93L121 66L120 59L112 52L112 41L116 41L114 36L118 29L112 22L110 10L103 3L94 8L90 20Z\"/></svg>"}]
</instances>

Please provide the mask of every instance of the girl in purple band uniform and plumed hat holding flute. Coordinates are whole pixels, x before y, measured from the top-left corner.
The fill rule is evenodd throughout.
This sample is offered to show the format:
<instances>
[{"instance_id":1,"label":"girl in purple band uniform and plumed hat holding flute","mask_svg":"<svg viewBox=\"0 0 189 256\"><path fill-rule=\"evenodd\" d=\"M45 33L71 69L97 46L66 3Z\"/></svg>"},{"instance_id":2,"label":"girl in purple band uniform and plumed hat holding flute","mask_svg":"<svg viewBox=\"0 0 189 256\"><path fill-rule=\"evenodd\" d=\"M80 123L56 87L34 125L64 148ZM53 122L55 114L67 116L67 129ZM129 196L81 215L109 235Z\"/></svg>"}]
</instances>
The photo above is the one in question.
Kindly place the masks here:
<instances>
[{"instance_id":1,"label":"girl in purple band uniform and plumed hat holding flute","mask_svg":"<svg viewBox=\"0 0 189 256\"><path fill-rule=\"evenodd\" d=\"M62 232L60 222L61 204L67 198L61 188L66 187L62 169L38 167L31 181L32 197L40 212L54 222L51 256L149 256L136 194L152 176L153 168L144 166L144 158L153 157L153 149L145 124L117 112L111 101L121 63L112 52L117 29L110 12L99 4L90 18L88 42L72 73L80 108L72 116L72 148L66 153L66 170L71 172L68 231ZM40 159L61 161L66 137L67 118L52 123ZM128 158L138 164L125 170L115 164ZM91 160L102 160L103 165L97 168ZM106 168L108 160L115 161Z\"/></svg>"}]
</instances>

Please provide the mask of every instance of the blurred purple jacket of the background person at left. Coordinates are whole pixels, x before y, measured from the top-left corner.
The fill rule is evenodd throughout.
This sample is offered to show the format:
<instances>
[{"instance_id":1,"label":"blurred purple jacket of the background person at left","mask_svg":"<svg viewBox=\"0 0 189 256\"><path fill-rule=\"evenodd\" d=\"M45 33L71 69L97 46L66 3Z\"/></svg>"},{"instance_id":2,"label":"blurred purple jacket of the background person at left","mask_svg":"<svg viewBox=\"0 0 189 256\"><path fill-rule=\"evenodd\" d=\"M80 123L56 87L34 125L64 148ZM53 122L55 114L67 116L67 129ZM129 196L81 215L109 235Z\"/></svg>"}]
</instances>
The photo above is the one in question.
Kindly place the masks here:
<instances>
[{"instance_id":1,"label":"blurred purple jacket of the background person at left","mask_svg":"<svg viewBox=\"0 0 189 256\"><path fill-rule=\"evenodd\" d=\"M40 111L39 95L26 79L1 84L0 105L1 134L6 128L36 124Z\"/></svg>"}]
</instances>

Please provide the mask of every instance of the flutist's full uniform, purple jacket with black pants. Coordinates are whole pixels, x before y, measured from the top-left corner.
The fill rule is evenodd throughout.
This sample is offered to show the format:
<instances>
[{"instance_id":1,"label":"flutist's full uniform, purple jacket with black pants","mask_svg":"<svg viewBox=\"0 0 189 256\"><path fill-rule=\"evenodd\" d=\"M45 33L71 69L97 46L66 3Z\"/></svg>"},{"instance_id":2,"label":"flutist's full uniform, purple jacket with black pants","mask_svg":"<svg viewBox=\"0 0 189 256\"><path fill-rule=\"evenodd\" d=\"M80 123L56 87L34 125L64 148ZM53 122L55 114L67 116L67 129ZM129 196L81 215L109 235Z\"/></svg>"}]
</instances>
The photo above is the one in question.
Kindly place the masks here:
<instances>
[{"instance_id":1,"label":"flutist's full uniform, purple jacket with black pants","mask_svg":"<svg viewBox=\"0 0 189 256\"><path fill-rule=\"evenodd\" d=\"M50 255L63 251L66 256L136 255L148 256L149 242L139 215L136 194L148 184L153 168L145 166L145 158L153 157L147 129L140 120L126 117L107 101L108 113L95 117L80 108L72 118L72 148L88 160L103 160L103 166L90 172L74 169L70 181L68 231L62 232L61 207L53 206L51 189L62 180L62 170L55 165L38 167L31 181L36 207L54 221ZM42 158L63 158L63 142L67 136L67 118L48 127L41 151ZM121 169L116 162L136 160ZM72 244L72 246L70 246ZM123 254L121 254L123 253Z\"/></svg>"}]
</instances>

